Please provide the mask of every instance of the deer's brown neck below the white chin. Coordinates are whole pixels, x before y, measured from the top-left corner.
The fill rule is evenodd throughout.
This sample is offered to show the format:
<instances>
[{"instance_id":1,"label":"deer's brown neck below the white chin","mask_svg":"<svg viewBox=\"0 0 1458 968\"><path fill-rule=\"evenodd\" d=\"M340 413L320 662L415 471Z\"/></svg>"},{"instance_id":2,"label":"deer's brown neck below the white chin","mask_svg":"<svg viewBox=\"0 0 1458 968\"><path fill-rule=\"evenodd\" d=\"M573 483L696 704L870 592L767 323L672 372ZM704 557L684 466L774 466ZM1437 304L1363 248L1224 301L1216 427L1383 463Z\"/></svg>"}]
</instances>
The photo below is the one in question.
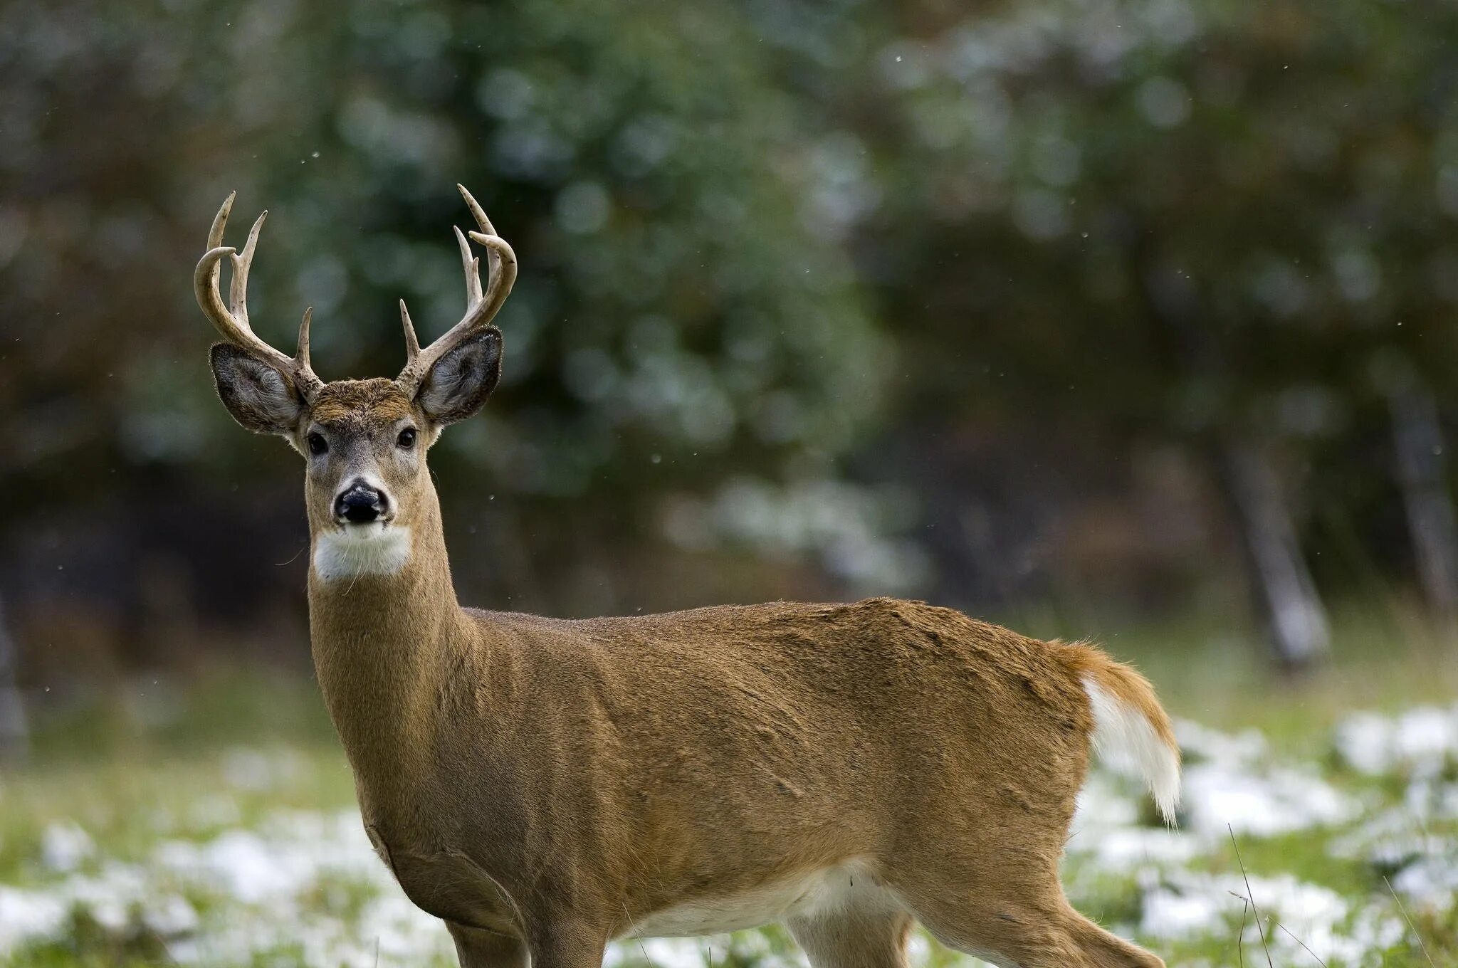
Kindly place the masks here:
<instances>
[{"instance_id":1,"label":"deer's brown neck below the white chin","mask_svg":"<svg viewBox=\"0 0 1458 968\"><path fill-rule=\"evenodd\" d=\"M427 488L429 490L429 488ZM364 787L408 783L430 748L445 676L469 649L469 622L451 585L440 506L421 496L395 570L334 570L315 529L309 633L324 700ZM334 561L337 564L337 561ZM322 571L322 573L321 573Z\"/></svg>"}]
</instances>

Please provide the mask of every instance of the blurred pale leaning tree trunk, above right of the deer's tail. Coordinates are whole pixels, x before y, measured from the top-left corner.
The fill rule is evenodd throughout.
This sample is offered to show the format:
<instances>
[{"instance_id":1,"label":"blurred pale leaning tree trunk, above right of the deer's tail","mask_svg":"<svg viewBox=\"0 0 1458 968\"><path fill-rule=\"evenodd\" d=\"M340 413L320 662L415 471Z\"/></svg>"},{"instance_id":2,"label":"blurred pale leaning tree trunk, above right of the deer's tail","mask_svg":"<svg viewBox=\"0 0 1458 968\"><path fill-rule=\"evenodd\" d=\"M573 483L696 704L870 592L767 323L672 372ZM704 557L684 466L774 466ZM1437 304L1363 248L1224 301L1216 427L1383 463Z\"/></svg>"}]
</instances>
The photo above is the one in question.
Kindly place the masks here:
<instances>
[{"instance_id":1,"label":"blurred pale leaning tree trunk, above right of the deer's tail","mask_svg":"<svg viewBox=\"0 0 1458 968\"><path fill-rule=\"evenodd\" d=\"M1220 445L1220 468L1276 657L1292 672L1314 666L1330 655L1331 633L1276 469L1260 448L1231 440Z\"/></svg>"}]
</instances>

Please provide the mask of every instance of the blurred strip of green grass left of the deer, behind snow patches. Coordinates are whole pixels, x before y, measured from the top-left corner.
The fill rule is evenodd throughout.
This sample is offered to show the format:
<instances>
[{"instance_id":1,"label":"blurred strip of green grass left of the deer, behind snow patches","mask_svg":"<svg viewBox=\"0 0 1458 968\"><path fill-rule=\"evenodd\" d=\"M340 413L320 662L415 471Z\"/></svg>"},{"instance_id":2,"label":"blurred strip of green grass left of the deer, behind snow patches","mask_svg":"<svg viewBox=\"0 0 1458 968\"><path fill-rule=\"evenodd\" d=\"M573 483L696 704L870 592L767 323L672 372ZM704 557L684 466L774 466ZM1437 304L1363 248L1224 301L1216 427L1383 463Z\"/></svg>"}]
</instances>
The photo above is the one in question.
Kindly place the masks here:
<instances>
[{"instance_id":1,"label":"blurred strip of green grass left of the deer, behind snow patches","mask_svg":"<svg viewBox=\"0 0 1458 968\"><path fill-rule=\"evenodd\" d=\"M149 690L139 685L139 690ZM44 830L85 828L109 856L136 860L162 830L206 837L278 809L354 802L348 765L308 676L216 669L169 700L159 722L124 692L42 711L29 761L0 776L0 883L35 873ZM230 783L230 751L296 764L264 789Z\"/></svg>"}]
</instances>

